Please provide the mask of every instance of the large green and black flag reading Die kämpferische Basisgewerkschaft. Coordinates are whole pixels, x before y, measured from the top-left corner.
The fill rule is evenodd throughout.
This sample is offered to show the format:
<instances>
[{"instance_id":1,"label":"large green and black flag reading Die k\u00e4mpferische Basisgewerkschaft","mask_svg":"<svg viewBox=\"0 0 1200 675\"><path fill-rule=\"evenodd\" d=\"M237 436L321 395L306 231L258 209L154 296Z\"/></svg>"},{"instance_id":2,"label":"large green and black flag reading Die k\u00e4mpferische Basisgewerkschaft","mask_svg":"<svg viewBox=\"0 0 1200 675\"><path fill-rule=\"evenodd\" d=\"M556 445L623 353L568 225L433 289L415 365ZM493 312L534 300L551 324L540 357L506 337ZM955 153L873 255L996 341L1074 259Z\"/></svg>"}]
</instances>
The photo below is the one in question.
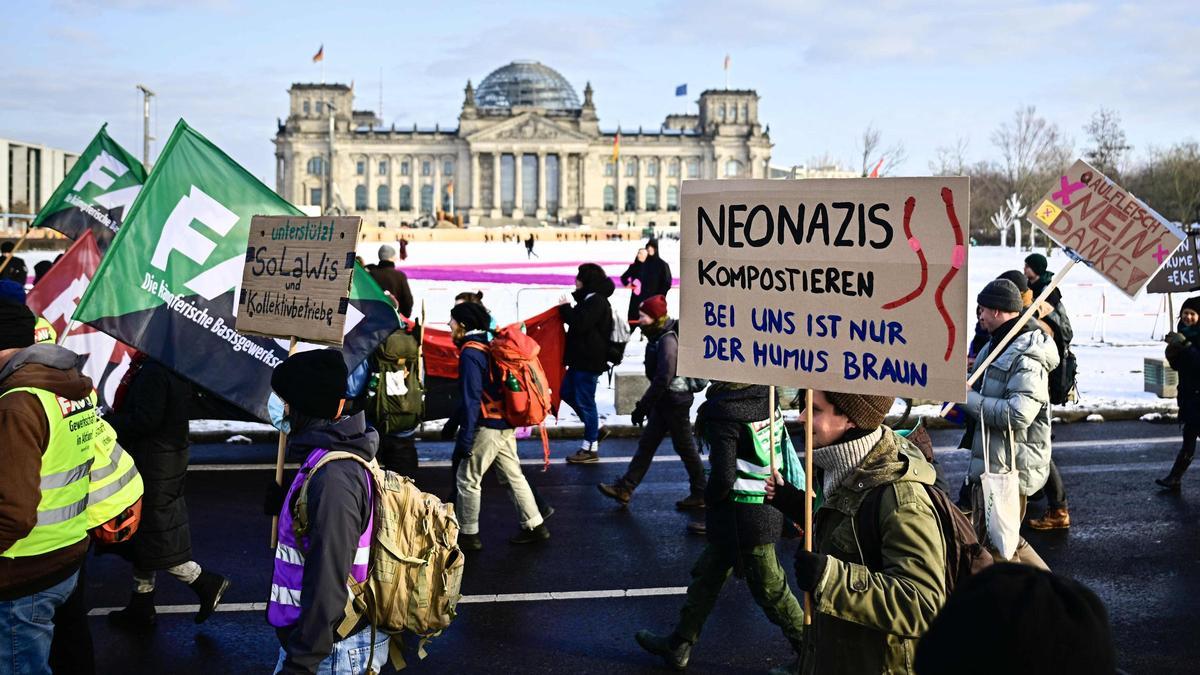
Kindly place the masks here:
<instances>
[{"instance_id":1,"label":"large green and black flag reading Die k\u00e4mpferische Basisgewerkschaft","mask_svg":"<svg viewBox=\"0 0 1200 675\"><path fill-rule=\"evenodd\" d=\"M254 215L302 214L180 120L74 319L268 419L271 371L287 358L288 342L234 330ZM388 297L356 265L342 346L347 369L398 327Z\"/></svg>"}]
</instances>

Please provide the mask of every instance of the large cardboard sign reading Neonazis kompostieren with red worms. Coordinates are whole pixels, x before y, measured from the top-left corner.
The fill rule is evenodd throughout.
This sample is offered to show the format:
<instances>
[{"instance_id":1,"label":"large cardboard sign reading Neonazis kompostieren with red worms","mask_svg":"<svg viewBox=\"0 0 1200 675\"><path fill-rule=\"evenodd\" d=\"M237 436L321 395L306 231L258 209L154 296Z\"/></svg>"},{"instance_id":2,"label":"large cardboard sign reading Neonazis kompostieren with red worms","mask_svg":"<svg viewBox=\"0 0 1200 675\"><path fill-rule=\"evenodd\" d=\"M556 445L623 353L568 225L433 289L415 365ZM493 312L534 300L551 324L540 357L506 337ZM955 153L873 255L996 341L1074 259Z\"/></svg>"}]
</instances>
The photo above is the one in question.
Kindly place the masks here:
<instances>
[{"instance_id":1,"label":"large cardboard sign reading Neonazis kompostieren with red worms","mask_svg":"<svg viewBox=\"0 0 1200 675\"><path fill-rule=\"evenodd\" d=\"M966 399L966 178L689 180L679 374Z\"/></svg>"}]
</instances>

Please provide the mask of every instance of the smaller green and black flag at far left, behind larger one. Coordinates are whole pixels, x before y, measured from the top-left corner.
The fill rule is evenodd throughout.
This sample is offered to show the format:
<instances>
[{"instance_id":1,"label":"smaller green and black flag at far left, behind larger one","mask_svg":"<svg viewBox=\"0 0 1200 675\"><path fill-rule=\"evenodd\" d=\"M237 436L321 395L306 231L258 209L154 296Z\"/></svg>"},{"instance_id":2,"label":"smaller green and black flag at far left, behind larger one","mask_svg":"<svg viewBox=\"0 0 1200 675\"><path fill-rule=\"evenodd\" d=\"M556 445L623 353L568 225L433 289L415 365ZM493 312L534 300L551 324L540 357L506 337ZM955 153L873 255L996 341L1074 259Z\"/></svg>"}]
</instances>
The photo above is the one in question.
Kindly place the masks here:
<instances>
[{"instance_id":1,"label":"smaller green and black flag at far left, behind larger one","mask_svg":"<svg viewBox=\"0 0 1200 675\"><path fill-rule=\"evenodd\" d=\"M146 171L108 136L108 125L91 139L30 227L49 227L71 239L91 229L101 251L146 181Z\"/></svg>"}]
</instances>

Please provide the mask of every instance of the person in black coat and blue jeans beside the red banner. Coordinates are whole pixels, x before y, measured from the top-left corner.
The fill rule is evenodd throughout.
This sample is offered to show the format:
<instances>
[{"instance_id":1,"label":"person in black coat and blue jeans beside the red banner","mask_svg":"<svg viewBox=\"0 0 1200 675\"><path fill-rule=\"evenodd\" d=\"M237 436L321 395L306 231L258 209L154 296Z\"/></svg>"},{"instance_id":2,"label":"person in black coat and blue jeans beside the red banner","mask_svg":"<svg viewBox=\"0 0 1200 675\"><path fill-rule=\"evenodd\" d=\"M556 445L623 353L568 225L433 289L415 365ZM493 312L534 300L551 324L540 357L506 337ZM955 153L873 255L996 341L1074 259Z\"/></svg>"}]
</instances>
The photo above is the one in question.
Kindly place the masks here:
<instances>
[{"instance_id":1,"label":"person in black coat and blue jeans beside the red banner","mask_svg":"<svg viewBox=\"0 0 1200 675\"><path fill-rule=\"evenodd\" d=\"M575 293L559 299L558 313L566 323L566 377L563 402L583 422L583 444L566 458L571 464L600 461L600 413L596 382L608 370L608 336L612 334L612 297L616 285L595 263L583 263L575 276ZM571 299L575 305L571 305Z\"/></svg>"}]
</instances>

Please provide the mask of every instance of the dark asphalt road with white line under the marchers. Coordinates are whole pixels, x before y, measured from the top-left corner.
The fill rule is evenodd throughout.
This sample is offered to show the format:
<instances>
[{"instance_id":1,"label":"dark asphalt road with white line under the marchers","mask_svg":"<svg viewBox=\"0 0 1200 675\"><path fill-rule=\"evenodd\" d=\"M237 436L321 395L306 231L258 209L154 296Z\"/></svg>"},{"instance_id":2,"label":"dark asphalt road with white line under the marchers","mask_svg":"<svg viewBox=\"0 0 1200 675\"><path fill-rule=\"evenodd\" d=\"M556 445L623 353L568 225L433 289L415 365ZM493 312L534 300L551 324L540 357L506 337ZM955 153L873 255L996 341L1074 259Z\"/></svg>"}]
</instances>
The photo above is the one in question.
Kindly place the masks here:
<instances>
[{"instance_id":1,"label":"dark asphalt road with white line under the marchers","mask_svg":"<svg viewBox=\"0 0 1200 675\"><path fill-rule=\"evenodd\" d=\"M1120 662L1129 673L1182 673L1194 668L1193 635L1200 597L1200 478L1180 496L1159 494L1153 478L1166 472L1177 429L1147 423L1076 424L1056 428L1055 456L1070 495L1070 532L1028 533L1057 572L1094 589L1109 607ZM938 431L952 448L953 431ZM556 443L565 456L577 442ZM536 464L540 447L522 443ZM605 443L608 455L628 456L632 441ZM450 446L421 446L419 483L445 494ZM269 587L269 519L260 512L274 449L268 446L197 446L187 482L193 548L202 565L230 575L226 609L203 626L192 623L190 591L160 581L163 614L148 635L109 627L106 608L128 598L127 566L104 556L89 561L89 602L102 673L269 673L277 641L258 609ZM528 476L557 513L552 539L540 548L510 546L516 530L506 495L485 484L485 549L468 560L460 616L430 646L412 673L653 673L656 662L632 641L642 627L666 631L682 603L688 571L703 548L685 534L689 516L673 502L685 492L682 465L670 447L660 452L628 509L595 490L623 464L556 465ZM941 454L952 483L966 470L962 452ZM1034 507L1037 509L1038 507ZM794 543L780 546L788 561ZM785 567L791 567L785 565ZM632 596L628 593L632 591ZM582 593L581 593L582 592ZM532 593L532 595L530 595ZM568 593L565 597L562 593ZM658 595L638 595L658 593ZM497 597L498 596L498 597ZM516 597L514 597L516 596ZM581 597L582 596L582 597ZM166 607L164 607L166 605ZM170 613L170 614L168 614ZM752 634L756 640L730 635ZM788 658L782 637L762 616L744 584L731 580L694 652L692 673L762 673Z\"/></svg>"}]
</instances>

